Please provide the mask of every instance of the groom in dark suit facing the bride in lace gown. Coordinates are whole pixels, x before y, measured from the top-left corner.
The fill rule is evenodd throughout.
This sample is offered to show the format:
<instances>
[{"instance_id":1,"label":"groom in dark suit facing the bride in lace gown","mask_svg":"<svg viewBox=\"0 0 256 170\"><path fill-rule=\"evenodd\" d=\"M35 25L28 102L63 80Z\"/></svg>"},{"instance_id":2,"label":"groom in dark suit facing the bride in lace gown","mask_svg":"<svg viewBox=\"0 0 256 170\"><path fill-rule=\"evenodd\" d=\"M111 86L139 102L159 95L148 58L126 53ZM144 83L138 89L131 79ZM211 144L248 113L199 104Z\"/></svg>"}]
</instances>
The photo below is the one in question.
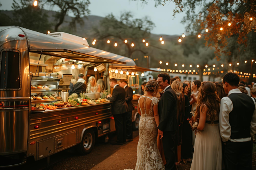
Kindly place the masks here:
<instances>
[{"instance_id":1,"label":"groom in dark suit facing the bride in lace gown","mask_svg":"<svg viewBox=\"0 0 256 170\"><path fill-rule=\"evenodd\" d=\"M160 118L158 134L163 136L163 150L166 160L165 170L176 170L174 138L176 130L178 130L177 96L169 85L171 78L167 73L159 74L157 81L160 84L160 89L164 91L158 104Z\"/></svg>"}]
</instances>

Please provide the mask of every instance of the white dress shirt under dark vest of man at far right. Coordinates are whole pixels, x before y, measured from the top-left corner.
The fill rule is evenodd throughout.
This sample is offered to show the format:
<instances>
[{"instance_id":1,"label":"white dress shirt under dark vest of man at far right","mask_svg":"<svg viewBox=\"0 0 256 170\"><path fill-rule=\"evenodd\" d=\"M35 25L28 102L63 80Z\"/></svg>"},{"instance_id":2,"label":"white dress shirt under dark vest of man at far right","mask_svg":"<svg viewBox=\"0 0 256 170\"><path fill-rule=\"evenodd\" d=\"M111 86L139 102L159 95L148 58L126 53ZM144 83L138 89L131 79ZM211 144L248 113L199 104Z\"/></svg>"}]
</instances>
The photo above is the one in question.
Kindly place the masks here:
<instances>
[{"instance_id":1,"label":"white dress shirt under dark vest of man at far right","mask_svg":"<svg viewBox=\"0 0 256 170\"><path fill-rule=\"evenodd\" d=\"M230 90L228 95L231 93L241 93L241 91L237 89ZM252 115L252 121L250 122L250 135L251 137L241 138L241 139L230 139L231 136L231 126L229 124L229 113L233 110L233 103L228 97L223 97L221 99L221 108L219 113L219 126L221 139L223 142L227 142L228 140L231 142L247 142L251 139L254 140L254 134L256 133L256 102L252 99L255 104L255 110ZM246 110L245 110L246 112ZM243 116L243 115L241 115Z\"/></svg>"}]
</instances>

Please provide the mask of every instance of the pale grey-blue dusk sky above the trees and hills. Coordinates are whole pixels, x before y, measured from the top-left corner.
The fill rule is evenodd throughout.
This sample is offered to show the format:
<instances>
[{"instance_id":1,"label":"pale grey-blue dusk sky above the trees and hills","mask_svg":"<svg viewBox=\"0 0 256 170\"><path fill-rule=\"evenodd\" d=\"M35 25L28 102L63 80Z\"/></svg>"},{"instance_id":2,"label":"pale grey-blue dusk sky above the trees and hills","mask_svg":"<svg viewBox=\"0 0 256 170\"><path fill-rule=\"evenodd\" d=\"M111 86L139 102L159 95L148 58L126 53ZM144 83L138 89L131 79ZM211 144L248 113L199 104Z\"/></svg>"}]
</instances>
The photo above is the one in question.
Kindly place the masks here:
<instances>
[{"instance_id":1,"label":"pale grey-blue dusk sky above the trees and hills","mask_svg":"<svg viewBox=\"0 0 256 170\"><path fill-rule=\"evenodd\" d=\"M121 11L131 11L134 18L150 17L156 25L152 30L154 34L182 35L185 32L185 26L180 23L185 13L180 13L174 18L173 9L175 4L173 2L167 2L164 6L159 5L158 7L154 7L154 0L149 0L147 5L142 5L140 0L90 0L90 2L89 9L91 10L91 15L104 17L109 13L113 13L113 15L118 17ZM0 10L12 10L13 0L0 0L0 3L2 4ZM50 8L48 9L50 10ZM58 9L54 8L52 10Z\"/></svg>"}]
</instances>

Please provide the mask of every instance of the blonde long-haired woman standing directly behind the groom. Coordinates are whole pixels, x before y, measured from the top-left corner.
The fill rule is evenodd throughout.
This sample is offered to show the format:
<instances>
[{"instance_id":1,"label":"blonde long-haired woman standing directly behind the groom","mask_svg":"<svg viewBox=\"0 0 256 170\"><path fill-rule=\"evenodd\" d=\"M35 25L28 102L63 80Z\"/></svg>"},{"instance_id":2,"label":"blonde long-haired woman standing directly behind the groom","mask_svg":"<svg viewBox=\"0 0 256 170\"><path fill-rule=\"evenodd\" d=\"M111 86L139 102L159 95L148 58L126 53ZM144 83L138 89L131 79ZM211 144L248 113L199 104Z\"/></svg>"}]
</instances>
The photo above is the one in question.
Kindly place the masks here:
<instances>
[{"instance_id":1,"label":"blonde long-haired woman standing directly behind the groom","mask_svg":"<svg viewBox=\"0 0 256 170\"><path fill-rule=\"evenodd\" d=\"M177 95L178 105L177 105L177 121L178 121L178 131L176 132L175 136L175 154L176 154L176 165L179 164L181 160L181 147L182 144L182 125L185 116L185 97L183 94L183 84L175 80L171 84L171 88L175 91Z\"/></svg>"}]
</instances>

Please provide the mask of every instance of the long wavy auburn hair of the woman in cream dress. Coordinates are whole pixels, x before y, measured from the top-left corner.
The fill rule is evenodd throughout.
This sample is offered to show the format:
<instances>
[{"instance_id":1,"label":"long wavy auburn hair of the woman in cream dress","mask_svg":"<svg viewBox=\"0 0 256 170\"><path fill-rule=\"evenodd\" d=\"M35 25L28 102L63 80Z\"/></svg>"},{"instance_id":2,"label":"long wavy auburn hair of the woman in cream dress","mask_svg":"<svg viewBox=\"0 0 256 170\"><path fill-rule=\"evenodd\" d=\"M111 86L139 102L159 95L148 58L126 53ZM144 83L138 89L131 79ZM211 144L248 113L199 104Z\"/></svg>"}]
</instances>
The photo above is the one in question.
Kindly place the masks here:
<instances>
[{"instance_id":1,"label":"long wavy auburn hair of the woman in cream dress","mask_svg":"<svg viewBox=\"0 0 256 170\"><path fill-rule=\"evenodd\" d=\"M211 124L219 117L219 109L220 109L220 98L217 95L216 86L213 82L202 82L197 97L197 110L195 112L195 121L198 122L197 118L200 115L200 106L205 105L208 108L208 112L206 113Z\"/></svg>"}]
</instances>

